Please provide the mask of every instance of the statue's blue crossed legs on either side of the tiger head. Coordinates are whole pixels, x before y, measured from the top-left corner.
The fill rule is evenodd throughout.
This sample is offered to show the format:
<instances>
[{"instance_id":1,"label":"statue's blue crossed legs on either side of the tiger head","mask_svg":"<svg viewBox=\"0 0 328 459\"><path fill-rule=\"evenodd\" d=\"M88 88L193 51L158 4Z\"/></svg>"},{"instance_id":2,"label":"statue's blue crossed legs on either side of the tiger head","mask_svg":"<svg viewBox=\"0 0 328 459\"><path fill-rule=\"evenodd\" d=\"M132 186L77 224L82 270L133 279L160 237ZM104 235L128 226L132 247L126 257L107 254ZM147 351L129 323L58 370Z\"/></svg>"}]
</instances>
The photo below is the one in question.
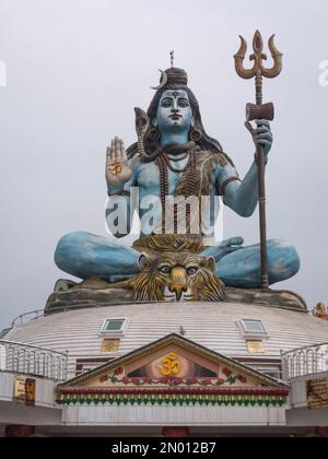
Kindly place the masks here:
<instances>
[{"instance_id":1,"label":"statue's blue crossed legs on either side of the tiger head","mask_svg":"<svg viewBox=\"0 0 328 459\"><path fill-rule=\"evenodd\" d=\"M218 248L219 250L219 248ZM215 258L215 247L203 255ZM140 252L114 244L106 237L77 232L63 236L56 249L55 261L59 269L80 279L101 278L110 282L131 278L140 272ZM285 281L300 270L300 257L289 243L268 242L270 285ZM215 274L227 285L256 289L261 285L259 245L243 247L216 262Z\"/></svg>"}]
</instances>

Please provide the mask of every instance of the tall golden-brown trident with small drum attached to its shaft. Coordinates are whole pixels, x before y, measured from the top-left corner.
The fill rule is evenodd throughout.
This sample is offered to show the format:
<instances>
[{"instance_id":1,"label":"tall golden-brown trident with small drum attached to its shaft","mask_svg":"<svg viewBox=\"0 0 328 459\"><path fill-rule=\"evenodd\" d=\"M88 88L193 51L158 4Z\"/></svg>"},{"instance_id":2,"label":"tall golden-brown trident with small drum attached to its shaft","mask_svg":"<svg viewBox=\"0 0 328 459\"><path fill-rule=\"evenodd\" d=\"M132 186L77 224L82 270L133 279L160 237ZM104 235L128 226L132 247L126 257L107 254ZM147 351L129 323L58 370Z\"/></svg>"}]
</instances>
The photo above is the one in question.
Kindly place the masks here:
<instances>
[{"instance_id":1,"label":"tall golden-brown trident with small drum attached to its shaft","mask_svg":"<svg viewBox=\"0 0 328 459\"><path fill-rule=\"evenodd\" d=\"M262 78L276 78L280 74L282 70L282 54L279 52L274 45L274 35L269 39L269 49L273 59L273 67L267 69L263 66L263 61L267 60L267 55L263 51L263 40L259 31L256 31L253 39L253 49L254 54L250 55L249 60L254 61L251 69L245 69L243 66L245 55L247 51L247 43L239 35L242 40L241 48L238 52L234 56L235 68L237 74L245 79L250 80L255 78L255 89L256 89L256 105L247 104L246 105L246 128L255 138L255 130L251 127L249 121L255 119L267 119L272 121L274 118L274 107L273 104L262 104ZM266 160L265 151L262 145L257 145L256 151L256 163L258 167L258 193L259 193L259 226L260 226L260 252L261 252L261 287L262 291L269 289L269 275L268 275L268 252L267 252L267 217L266 217Z\"/></svg>"}]
</instances>

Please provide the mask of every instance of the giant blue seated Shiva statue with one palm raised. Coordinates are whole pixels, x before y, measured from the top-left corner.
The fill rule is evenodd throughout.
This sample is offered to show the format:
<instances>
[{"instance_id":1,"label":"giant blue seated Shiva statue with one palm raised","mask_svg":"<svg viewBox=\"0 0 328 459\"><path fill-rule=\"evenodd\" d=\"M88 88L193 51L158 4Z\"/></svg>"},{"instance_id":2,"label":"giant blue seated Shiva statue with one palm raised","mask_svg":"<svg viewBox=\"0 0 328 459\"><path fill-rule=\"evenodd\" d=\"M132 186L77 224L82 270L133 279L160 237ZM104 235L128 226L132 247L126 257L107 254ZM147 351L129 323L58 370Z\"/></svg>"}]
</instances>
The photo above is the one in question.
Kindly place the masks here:
<instances>
[{"instance_id":1,"label":"giant blue seated Shiva statue with one palm raised","mask_svg":"<svg viewBox=\"0 0 328 459\"><path fill-rule=\"evenodd\" d=\"M161 231L178 233L180 216L168 197L209 198L208 205L202 205L200 219L195 216L199 204L195 208L190 201L184 211L186 234L197 234L197 227L207 239L211 234L204 228L214 227L220 210L214 205L218 196L238 215L251 216L258 203L256 162L241 180L221 144L206 132L184 70L172 67L162 72L155 90L148 113L136 109L138 142L126 150L124 142L115 138L107 150L107 220L112 222L109 226L116 228L115 236L121 238L130 233L136 209L141 220L139 240ZM263 146L268 158L272 146L269 122L257 120L256 123L255 142ZM214 273L225 285L260 287L259 245L243 247L243 243L242 237L233 237L220 245L206 244L201 255L214 259ZM57 266L67 273L82 280L101 278L107 282L137 275L139 260L137 247L125 247L85 232L63 236L55 254ZM300 269L295 248L282 240L269 240L268 267L270 285L295 275Z\"/></svg>"}]
</instances>

